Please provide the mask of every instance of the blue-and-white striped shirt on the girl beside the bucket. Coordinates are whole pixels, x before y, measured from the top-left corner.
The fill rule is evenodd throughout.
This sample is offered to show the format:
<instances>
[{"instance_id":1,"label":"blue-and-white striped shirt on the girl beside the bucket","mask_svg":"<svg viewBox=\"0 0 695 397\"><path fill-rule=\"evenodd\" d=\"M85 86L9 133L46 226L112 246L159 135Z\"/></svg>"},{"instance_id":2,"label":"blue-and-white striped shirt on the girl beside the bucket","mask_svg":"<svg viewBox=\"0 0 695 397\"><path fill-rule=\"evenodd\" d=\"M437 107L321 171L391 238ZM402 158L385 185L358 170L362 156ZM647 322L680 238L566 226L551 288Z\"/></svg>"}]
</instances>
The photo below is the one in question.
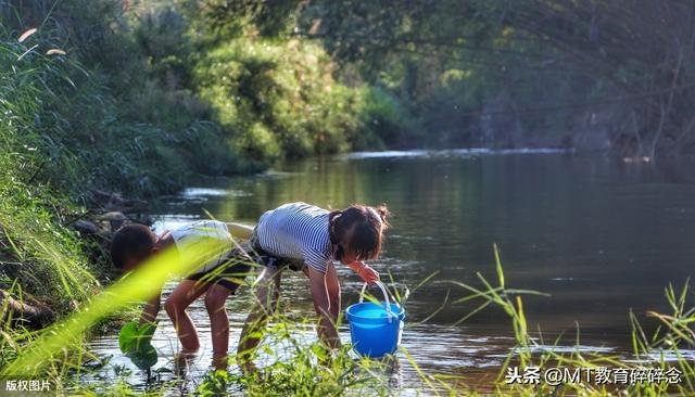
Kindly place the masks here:
<instances>
[{"instance_id":1,"label":"blue-and-white striped shirt on the girl beside the bucket","mask_svg":"<svg viewBox=\"0 0 695 397\"><path fill-rule=\"evenodd\" d=\"M306 203L290 203L261 216L256 236L261 248L283 258L302 259L326 273L332 262L328 212Z\"/></svg>"}]
</instances>

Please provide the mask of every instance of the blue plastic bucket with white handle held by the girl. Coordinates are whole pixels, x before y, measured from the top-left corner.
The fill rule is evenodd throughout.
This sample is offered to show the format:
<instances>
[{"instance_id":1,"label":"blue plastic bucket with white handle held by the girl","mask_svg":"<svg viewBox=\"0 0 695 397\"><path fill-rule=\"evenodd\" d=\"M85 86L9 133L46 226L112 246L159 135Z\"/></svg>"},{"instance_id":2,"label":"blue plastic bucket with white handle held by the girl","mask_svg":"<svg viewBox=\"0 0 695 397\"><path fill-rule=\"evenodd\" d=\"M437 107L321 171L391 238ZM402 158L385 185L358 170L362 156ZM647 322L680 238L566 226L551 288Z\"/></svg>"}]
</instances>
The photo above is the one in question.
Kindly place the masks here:
<instances>
[{"instance_id":1,"label":"blue plastic bucket with white handle held by the girl","mask_svg":"<svg viewBox=\"0 0 695 397\"><path fill-rule=\"evenodd\" d=\"M379 305L364 302L367 284L362 287L359 303L348 308L350 337L353 349L361 356L380 358L392 355L401 344L405 309L389 302L383 284L376 283L383 293L386 303Z\"/></svg>"}]
</instances>

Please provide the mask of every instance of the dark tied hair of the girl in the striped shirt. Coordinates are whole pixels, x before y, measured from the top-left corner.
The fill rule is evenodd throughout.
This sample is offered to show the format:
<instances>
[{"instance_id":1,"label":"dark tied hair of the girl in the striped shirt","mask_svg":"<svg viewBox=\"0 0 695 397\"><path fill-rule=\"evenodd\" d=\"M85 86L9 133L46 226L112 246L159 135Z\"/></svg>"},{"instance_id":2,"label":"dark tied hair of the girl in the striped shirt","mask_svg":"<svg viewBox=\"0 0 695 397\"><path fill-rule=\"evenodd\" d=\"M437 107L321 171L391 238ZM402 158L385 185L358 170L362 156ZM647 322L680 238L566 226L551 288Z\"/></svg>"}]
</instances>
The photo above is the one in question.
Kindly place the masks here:
<instances>
[{"instance_id":1,"label":"dark tied hair of the girl in the striped shirt","mask_svg":"<svg viewBox=\"0 0 695 397\"><path fill-rule=\"evenodd\" d=\"M337 247L336 259L340 260L345 251L355 253L361 260L374 259L381 253L382 234L389 227L389 209L386 204L378 207L353 204L345 209L328 215L330 242ZM340 244L350 235L349 246Z\"/></svg>"}]
</instances>

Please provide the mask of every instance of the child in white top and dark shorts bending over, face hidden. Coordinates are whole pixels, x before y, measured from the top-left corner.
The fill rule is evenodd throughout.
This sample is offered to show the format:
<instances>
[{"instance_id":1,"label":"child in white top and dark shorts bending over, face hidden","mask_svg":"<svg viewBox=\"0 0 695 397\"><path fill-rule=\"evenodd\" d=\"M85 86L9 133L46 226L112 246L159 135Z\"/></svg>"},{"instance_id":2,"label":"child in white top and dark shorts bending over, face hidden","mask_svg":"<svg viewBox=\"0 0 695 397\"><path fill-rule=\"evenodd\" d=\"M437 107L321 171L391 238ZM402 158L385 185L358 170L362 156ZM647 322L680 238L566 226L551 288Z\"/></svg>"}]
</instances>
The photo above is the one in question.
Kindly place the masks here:
<instances>
[{"instance_id":1,"label":"child in white top and dark shorts bending over, face hidden","mask_svg":"<svg viewBox=\"0 0 695 397\"><path fill-rule=\"evenodd\" d=\"M226 356L229 346L229 319L225 310L225 303L229 295L235 294L251 268L251 261L267 260L251 256L247 253L248 243L236 247L231 238L232 229L243 228L236 223L225 223L216 220L200 220L185 225L172 231L165 231L161 236L143 225L127 225L113 236L111 256L115 267L123 271L139 268L157 252L165 248L176 248L181 253L188 244L195 244L203 239L216 242L215 252L211 253L210 261L185 277L174 289L164 303L164 308L174 322L174 326L181 342L181 353L198 351L200 342L198 332L186 308L202 295L205 295L205 308L210 316L213 343L213 364L217 368L226 367ZM240 231L240 230L238 230ZM245 248L244 249L244 245ZM191 245L188 245L191 246ZM140 324L154 323L160 311L161 290L153 292L153 297L146 305L140 316Z\"/></svg>"}]
</instances>

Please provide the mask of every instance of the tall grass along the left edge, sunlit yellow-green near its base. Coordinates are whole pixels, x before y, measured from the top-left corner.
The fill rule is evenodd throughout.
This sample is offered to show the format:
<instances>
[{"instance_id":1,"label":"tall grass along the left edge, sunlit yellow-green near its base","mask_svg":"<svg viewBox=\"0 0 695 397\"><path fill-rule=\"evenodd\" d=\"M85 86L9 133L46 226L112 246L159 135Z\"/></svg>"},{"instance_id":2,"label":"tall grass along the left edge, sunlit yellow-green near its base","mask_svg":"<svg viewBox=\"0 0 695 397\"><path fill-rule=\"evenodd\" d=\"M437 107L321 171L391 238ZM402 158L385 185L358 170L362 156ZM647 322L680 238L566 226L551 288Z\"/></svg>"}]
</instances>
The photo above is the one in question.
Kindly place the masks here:
<instances>
[{"instance_id":1,"label":"tall grass along the left edge, sunlit yellow-green near its base","mask_svg":"<svg viewBox=\"0 0 695 397\"><path fill-rule=\"evenodd\" d=\"M0 40L0 286L20 281L24 293L65 312L99 283L80 242L61 225L81 210L64 185L85 172L60 136L65 119L51 111L74 89L64 72L70 62L36 35Z\"/></svg>"}]
</instances>

